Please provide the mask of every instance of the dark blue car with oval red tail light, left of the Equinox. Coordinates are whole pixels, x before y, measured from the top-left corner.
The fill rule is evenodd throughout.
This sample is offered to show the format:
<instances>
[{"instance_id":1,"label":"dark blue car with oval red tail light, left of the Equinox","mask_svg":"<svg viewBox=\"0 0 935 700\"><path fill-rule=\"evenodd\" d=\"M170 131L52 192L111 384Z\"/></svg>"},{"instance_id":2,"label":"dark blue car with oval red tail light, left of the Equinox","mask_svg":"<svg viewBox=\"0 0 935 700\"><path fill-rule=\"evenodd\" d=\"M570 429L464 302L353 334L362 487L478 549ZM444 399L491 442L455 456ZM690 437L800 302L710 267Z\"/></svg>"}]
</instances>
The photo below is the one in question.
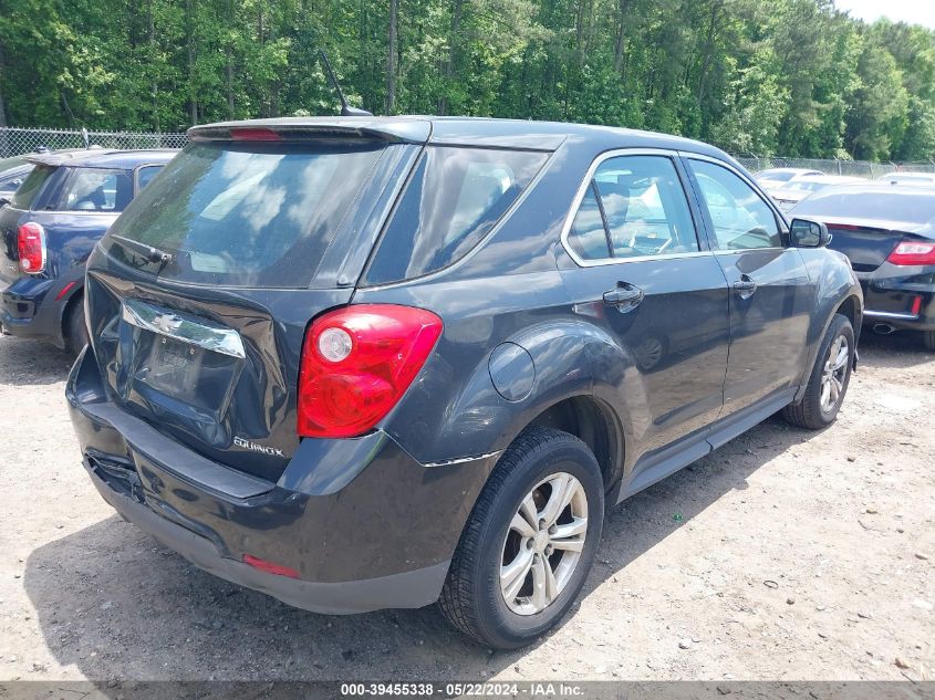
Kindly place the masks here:
<instances>
[{"instance_id":1,"label":"dark blue car with oval red tail light, left of the Equinox","mask_svg":"<svg viewBox=\"0 0 935 700\"><path fill-rule=\"evenodd\" d=\"M33 170L0 209L0 327L80 351L92 249L175 150L30 155Z\"/></svg>"}]
</instances>

